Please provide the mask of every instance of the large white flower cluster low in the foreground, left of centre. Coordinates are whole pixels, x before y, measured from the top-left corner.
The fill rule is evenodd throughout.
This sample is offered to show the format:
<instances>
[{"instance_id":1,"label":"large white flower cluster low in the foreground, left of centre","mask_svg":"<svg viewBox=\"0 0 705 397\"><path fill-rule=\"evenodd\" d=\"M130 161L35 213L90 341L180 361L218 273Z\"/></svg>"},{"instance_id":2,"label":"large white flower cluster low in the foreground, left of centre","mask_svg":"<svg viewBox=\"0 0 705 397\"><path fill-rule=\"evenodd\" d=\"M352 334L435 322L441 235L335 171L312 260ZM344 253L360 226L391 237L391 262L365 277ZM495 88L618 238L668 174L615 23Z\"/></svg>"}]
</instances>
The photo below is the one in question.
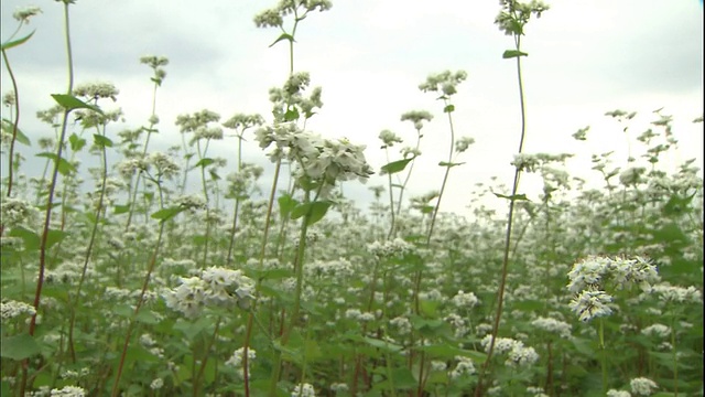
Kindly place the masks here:
<instances>
[{"instance_id":1,"label":"large white flower cluster low in the foreground, left of centre","mask_svg":"<svg viewBox=\"0 0 705 397\"><path fill-rule=\"evenodd\" d=\"M207 305L248 309L254 299L254 282L241 270L209 267L199 276L180 278L181 285L163 293L166 305L187 318L197 316Z\"/></svg>"}]
</instances>

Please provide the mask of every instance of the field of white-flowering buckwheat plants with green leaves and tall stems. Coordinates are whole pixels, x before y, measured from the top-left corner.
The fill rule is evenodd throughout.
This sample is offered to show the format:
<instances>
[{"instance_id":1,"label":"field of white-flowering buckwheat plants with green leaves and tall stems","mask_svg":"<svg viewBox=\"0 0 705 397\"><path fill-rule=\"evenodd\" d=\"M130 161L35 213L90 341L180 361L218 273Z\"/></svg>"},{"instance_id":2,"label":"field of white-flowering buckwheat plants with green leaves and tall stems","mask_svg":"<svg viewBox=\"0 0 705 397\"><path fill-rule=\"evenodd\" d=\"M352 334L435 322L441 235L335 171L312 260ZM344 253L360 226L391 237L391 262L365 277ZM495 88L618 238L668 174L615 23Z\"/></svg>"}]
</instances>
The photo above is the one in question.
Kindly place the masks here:
<instances>
[{"instance_id":1,"label":"field of white-flowering buckwheat plants with green leaves and tall stems","mask_svg":"<svg viewBox=\"0 0 705 397\"><path fill-rule=\"evenodd\" d=\"M66 15L80 7L58 2ZM296 26L329 8L283 0L254 17L290 47L272 117L184 114L182 142L165 152L150 148L156 100L147 125L117 131L123 115L104 107L119 90L73 78L36 115L54 133L28 137L9 55L31 40L23 28L40 10L17 11L18 31L2 42L12 89L0 394L703 396L703 180L693 160L661 167L677 150L672 117L657 112L634 137L627 168L593 154L600 189L566 171L575 153L522 152L522 124L513 182L468 192L494 193L507 212L477 198L470 218L443 212L447 176L474 143L453 126L466 73L419 86L438 99L451 140L443 181L405 196L431 112L401 116L415 142L379 135L381 169L362 146L305 128L325 110L321 88L293 69ZM496 20L512 39L503 57L517 64L522 120L523 28L547 10L503 0ZM70 43L68 19L64 29ZM67 55L70 75L70 46ZM140 62L155 97L169 61ZM626 130L636 114L606 116ZM235 160L208 154L224 129ZM588 140L588 128L574 138ZM241 160L245 140L271 160L273 179ZM43 161L40 175L25 173L20 148ZM373 173L389 183L370 186L377 200L360 208L340 184ZM543 181L540 200L522 194L525 174Z\"/></svg>"}]
</instances>

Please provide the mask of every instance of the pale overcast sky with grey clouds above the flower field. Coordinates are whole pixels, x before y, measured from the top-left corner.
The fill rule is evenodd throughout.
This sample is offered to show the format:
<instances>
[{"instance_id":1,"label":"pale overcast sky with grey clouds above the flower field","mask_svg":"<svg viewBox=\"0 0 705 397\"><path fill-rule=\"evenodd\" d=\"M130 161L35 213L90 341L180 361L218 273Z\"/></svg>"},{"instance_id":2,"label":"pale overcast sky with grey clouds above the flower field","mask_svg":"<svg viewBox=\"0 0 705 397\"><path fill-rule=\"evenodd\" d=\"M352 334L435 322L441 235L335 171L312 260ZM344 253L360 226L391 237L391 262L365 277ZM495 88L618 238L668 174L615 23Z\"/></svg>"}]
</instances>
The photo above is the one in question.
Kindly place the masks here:
<instances>
[{"instance_id":1,"label":"pale overcast sky with grey clouds above the flower field","mask_svg":"<svg viewBox=\"0 0 705 397\"><path fill-rule=\"evenodd\" d=\"M169 57L167 76L159 89L160 135L151 148L165 150L181 141L177 115L209 109L221 121L237 112L259 112L271 121L268 90L281 86L289 73L288 45L269 45L275 29L252 22L275 0L78 0L70 6L70 33L76 83L110 82L119 89L123 125L117 132L147 124L151 111L151 69L143 55ZM627 141L658 119L654 109L672 115L679 151L664 159L676 164L695 158L703 163L703 6L697 0L554 0L541 19L532 19L522 37L522 73L527 100L524 152L576 153L568 162L573 175L593 181L593 153L615 151L617 165L627 158ZM55 1L2 0L2 41L14 31L12 12L37 4L43 13L24 33L36 29L24 45L8 51L22 106L20 127L35 142L53 132L33 115L53 106L50 94L66 89L63 6ZM323 87L324 106L306 128L327 138L346 137L366 144L368 162L377 171L387 163L379 132L390 129L415 143L415 130L400 116L429 110L435 118L424 128L422 155L416 160L405 197L441 187L449 131L443 104L419 90L432 73L466 71L467 81L453 97L456 136L476 141L453 168L441 211L468 215L476 183L511 184L520 135L516 62L502 60L512 39L494 24L498 1L467 0L333 0L327 12L314 12L296 32L294 69L308 72L312 86ZM21 33L21 34L24 34ZM2 93L10 89L2 63ZM637 111L628 136L605 112ZM3 117L7 117L3 109ZM590 126L588 140L571 136ZM227 132L227 130L226 130ZM249 136L252 138L252 136ZM247 138L247 137L246 137ZM245 147L245 160L273 167L256 142ZM235 159L236 140L227 138L209 157ZM632 153L633 154L633 153ZM639 153L637 153L639 154ZM32 159L31 152L25 154ZM390 160L400 159L398 147ZM117 157L109 161L117 161ZM36 160L35 160L36 161ZM37 162L39 163L39 162ZM235 160L231 162L235 168ZM673 165L674 167L674 165ZM39 168L39 167L37 167ZM229 171L229 170L228 170ZM40 171L37 171L39 173ZM528 175L521 192L540 193ZM369 187L386 184L375 175L367 184L347 182L344 192L366 208ZM597 181L595 181L597 183ZM508 193L508 192L501 192ZM485 197L489 205L505 206Z\"/></svg>"}]
</instances>

